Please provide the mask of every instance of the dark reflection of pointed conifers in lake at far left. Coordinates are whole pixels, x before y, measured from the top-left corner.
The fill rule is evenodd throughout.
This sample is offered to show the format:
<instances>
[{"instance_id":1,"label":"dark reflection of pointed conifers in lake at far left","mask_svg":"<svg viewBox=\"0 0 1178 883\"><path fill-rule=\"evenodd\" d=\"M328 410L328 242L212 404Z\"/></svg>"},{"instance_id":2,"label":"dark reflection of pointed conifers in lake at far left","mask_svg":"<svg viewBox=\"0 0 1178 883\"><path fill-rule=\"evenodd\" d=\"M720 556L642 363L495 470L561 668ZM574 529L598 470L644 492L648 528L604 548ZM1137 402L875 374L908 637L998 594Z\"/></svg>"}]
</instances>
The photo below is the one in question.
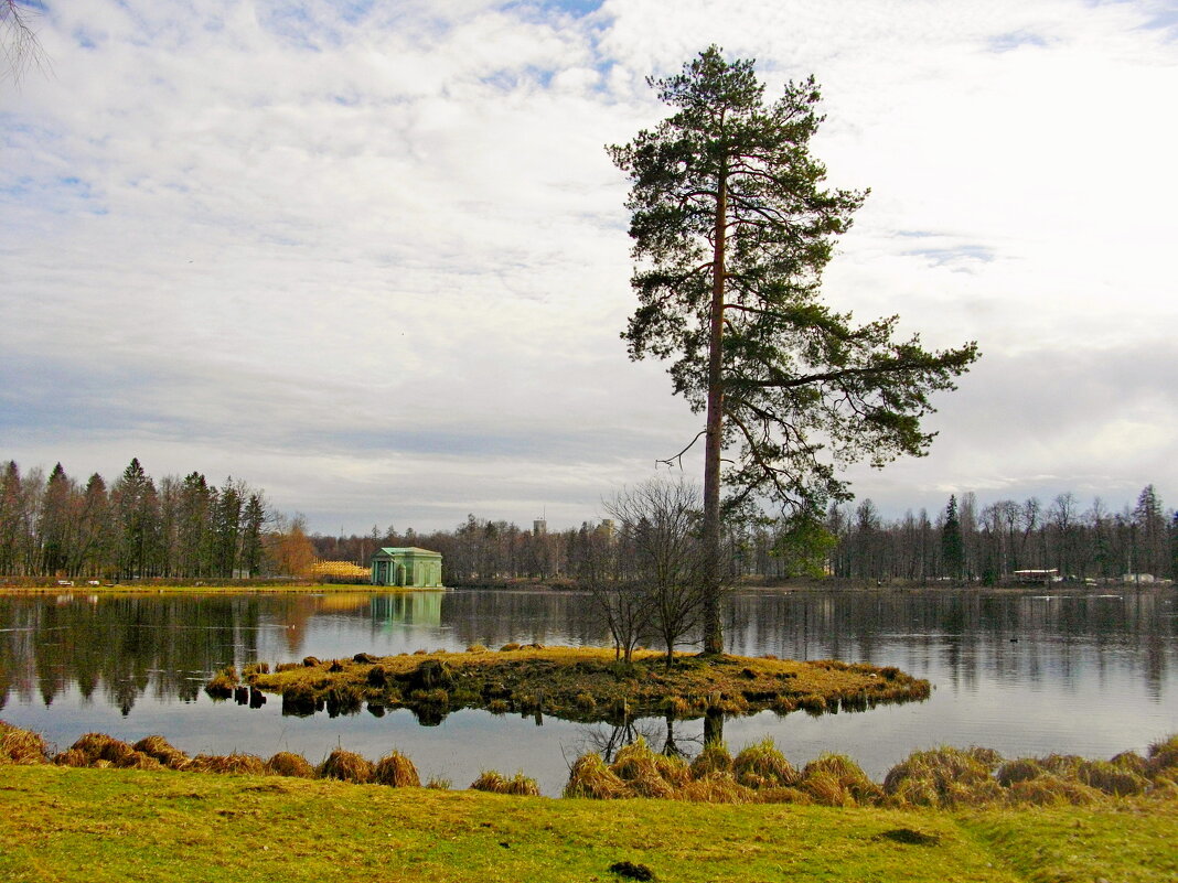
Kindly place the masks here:
<instances>
[{"instance_id":1,"label":"dark reflection of pointed conifers in lake at far left","mask_svg":"<svg viewBox=\"0 0 1178 883\"><path fill-rule=\"evenodd\" d=\"M74 683L124 713L148 691L191 702L218 668L257 658L259 620L250 596L0 598L4 698L49 705Z\"/></svg>"}]
</instances>

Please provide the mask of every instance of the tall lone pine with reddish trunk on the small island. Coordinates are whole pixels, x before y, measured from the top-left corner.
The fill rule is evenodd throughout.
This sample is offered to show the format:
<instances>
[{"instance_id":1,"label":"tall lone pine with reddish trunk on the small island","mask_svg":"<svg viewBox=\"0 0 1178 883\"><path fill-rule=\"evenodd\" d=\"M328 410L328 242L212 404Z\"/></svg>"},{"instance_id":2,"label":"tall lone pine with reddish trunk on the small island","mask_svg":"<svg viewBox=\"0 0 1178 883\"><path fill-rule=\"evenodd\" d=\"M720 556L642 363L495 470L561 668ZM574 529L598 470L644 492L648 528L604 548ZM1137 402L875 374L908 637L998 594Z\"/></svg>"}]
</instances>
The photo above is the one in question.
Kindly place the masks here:
<instances>
[{"instance_id":1,"label":"tall lone pine with reddish trunk on the small island","mask_svg":"<svg viewBox=\"0 0 1178 883\"><path fill-rule=\"evenodd\" d=\"M820 517L851 497L840 466L925 453L928 394L953 389L978 351L927 351L894 339L896 317L854 325L820 303L834 238L866 193L821 186L813 78L767 105L753 61L712 46L649 82L674 113L609 148L631 182L638 307L622 337L633 359L671 360L675 393L706 412L683 452L704 438L703 650L720 653L721 485L730 505L766 496Z\"/></svg>"}]
</instances>

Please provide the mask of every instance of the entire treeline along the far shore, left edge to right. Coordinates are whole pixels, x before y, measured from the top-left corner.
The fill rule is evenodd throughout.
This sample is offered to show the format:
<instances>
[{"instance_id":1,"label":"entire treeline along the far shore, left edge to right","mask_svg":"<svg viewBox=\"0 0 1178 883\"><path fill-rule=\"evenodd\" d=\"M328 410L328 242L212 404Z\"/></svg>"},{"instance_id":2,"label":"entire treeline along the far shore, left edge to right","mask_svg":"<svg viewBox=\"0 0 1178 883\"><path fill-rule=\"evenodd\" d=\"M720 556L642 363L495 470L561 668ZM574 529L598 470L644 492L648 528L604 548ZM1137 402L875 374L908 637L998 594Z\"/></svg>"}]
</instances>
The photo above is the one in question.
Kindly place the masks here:
<instances>
[{"instance_id":1,"label":"entire treeline along the far shore, left edge to right","mask_svg":"<svg viewBox=\"0 0 1178 883\"><path fill-rule=\"evenodd\" d=\"M316 558L366 565L380 546L416 545L443 555L448 585L573 577L594 536L608 524L562 531L521 529L469 516L449 531L375 527L364 536L307 533L300 517L270 511L245 482L219 486L191 472L152 479L138 459L107 483L85 483L60 464L21 473L0 467L0 576L94 579L307 577ZM1137 504L1086 507L1071 492L1044 504L973 493L887 520L869 499L832 506L820 522L746 518L728 526L730 577L780 579L829 573L869 582L994 584L1018 570L1065 579L1178 576L1178 516L1153 485Z\"/></svg>"}]
</instances>

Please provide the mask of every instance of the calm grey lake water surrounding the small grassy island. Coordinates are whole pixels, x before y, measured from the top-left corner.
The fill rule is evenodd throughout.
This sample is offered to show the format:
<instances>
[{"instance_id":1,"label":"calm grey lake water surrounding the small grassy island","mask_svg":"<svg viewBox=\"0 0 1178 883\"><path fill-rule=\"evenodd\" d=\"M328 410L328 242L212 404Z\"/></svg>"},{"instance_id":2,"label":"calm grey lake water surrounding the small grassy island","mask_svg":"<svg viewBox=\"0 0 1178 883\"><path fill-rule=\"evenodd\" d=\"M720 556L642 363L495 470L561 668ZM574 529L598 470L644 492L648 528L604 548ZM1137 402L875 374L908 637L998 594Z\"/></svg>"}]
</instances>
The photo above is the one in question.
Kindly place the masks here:
<instances>
[{"instance_id":1,"label":"calm grey lake water surrounding the small grassy island","mask_svg":"<svg viewBox=\"0 0 1178 883\"><path fill-rule=\"evenodd\" d=\"M732 596L726 645L742 655L898 665L928 678L927 702L861 713L729 718L735 749L772 736L795 764L847 753L881 778L913 750L986 745L1007 756L1110 757L1178 732L1178 591L779 592ZM694 753L702 721L630 731L465 710L422 726L411 712L284 717L201 690L224 665L413 650L608 643L588 596L452 591L409 595L0 597L0 718L61 749L92 730L163 733L188 753L278 750L318 762L336 746L372 759L406 752L423 778L465 788L485 769L523 770L558 794L589 749L646 735Z\"/></svg>"}]
</instances>

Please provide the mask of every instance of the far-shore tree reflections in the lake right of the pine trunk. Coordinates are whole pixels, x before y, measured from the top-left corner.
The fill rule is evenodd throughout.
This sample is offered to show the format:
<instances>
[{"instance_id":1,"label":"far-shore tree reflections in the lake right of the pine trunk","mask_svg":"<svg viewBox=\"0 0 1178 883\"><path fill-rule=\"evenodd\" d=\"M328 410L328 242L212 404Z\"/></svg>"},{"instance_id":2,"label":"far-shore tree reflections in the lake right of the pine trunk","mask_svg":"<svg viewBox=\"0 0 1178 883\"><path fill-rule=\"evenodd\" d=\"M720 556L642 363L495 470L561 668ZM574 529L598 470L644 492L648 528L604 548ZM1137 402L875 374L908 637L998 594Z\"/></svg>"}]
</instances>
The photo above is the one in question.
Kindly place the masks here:
<instances>
[{"instance_id":1,"label":"far-shore tree reflections in the lake right of the pine trunk","mask_svg":"<svg viewBox=\"0 0 1178 883\"><path fill-rule=\"evenodd\" d=\"M1088 666L1127 665L1159 697L1172 663L1173 592L1028 596L981 592L736 593L729 650L835 658L919 670L935 658L954 686L982 679L1072 686ZM896 658L896 646L908 658ZM887 648L891 657L882 658Z\"/></svg>"}]
</instances>

